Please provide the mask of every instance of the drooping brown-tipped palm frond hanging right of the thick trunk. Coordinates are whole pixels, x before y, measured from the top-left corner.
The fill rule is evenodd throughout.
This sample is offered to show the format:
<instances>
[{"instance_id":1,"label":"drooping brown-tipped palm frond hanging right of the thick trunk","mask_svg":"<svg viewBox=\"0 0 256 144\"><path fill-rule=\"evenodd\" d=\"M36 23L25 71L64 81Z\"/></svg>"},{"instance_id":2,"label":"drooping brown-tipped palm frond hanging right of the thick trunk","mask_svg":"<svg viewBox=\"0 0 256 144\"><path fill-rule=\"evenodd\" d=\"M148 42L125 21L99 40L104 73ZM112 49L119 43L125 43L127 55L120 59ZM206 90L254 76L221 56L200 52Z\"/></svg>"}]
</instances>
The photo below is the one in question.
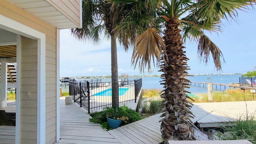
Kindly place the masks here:
<instances>
[{"instance_id":1,"label":"drooping brown-tipped palm frond hanging right of the thick trunk","mask_svg":"<svg viewBox=\"0 0 256 144\"><path fill-rule=\"evenodd\" d=\"M200 61L203 61L205 64L209 60L209 55L212 53L212 58L214 61L214 65L216 70L221 71L222 70L222 63L220 61L220 58L222 58L223 62L225 63L224 57L222 55L222 52L216 46L210 38L206 35L202 35L199 40L198 44L198 58Z\"/></svg>"}]
</instances>

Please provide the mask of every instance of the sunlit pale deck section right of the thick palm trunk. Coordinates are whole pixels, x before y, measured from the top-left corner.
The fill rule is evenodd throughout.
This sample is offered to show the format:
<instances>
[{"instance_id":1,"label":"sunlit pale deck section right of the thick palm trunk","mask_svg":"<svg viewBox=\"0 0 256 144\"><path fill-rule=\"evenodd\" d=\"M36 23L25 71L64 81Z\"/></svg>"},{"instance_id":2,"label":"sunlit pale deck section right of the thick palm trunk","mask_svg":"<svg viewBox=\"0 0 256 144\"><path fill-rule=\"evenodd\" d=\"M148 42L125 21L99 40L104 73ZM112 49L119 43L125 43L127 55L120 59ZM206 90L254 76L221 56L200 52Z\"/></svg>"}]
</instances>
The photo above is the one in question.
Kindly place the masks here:
<instances>
[{"instance_id":1,"label":"sunlit pale deck section right of the thick palm trunk","mask_svg":"<svg viewBox=\"0 0 256 144\"><path fill-rule=\"evenodd\" d=\"M244 116L246 107L248 115L255 116L256 101L194 103L192 121L199 128L227 126Z\"/></svg>"}]
</instances>

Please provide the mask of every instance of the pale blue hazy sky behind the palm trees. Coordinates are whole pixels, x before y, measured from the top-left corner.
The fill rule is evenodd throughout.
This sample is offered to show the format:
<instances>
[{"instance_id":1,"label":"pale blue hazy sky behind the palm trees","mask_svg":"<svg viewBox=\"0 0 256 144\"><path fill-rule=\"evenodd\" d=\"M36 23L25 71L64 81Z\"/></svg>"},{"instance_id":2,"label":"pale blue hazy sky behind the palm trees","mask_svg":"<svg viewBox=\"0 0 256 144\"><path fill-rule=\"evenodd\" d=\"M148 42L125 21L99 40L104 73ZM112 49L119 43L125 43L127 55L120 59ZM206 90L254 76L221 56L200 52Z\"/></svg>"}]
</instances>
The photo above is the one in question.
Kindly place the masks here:
<instances>
[{"instance_id":1,"label":"pale blue hazy sky behind the palm trees","mask_svg":"<svg viewBox=\"0 0 256 144\"><path fill-rule=\"evenodd\" d=\"M254 6L256 8L256 6ZM222 72L214 68L212 57L208 64L200 62L197 43L187 41L184 45L189 74L246 73L256 66L256 10L238 11L236 21L223 21L222 32L205 32L221 50L225 63ZM124 51L117 45L118 75L160 75L156 67L150 74L140 73L131 66L132 50ZM107 76L111 75L110 40L102 39L100 44L76 40L70 29L60 30L60 76Z\"/></svg>"}]
</instances>

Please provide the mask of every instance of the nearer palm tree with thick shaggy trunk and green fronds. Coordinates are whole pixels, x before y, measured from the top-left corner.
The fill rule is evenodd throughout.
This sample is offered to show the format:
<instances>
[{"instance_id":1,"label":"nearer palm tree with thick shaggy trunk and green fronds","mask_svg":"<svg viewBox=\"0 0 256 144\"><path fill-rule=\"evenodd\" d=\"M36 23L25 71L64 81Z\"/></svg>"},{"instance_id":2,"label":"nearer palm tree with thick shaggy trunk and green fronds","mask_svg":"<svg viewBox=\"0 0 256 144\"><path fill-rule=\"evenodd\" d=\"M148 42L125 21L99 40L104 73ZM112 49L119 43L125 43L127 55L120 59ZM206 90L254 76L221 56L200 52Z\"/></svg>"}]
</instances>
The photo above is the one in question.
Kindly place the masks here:
<instances>
[{"instance_id":1,"label":"nearer palm tree with thick shaggy trunk and green fronds","mask_svg":"<svg viewBox=\"0 0 256 144\"><path fill-rule=\"evenodd\" d=\"M160 116L163 142L172 140L195 140L191 128L193 114L190 111L192 103L185 90L188 87L188 75L186 52L183 41L187 39L198 42L198 56L207 63L212 55L216 70L221 70L224 61L220 49L204 34L204 30L219 32L221 20L236 18L238 9L248 9L248 5L254 4L250 0L162 0L159 15L164 19L163 40L155 38L158 34L152 24L148 30L138 36L134 47L132 64L144 72L150 67L150 60L156 58L160 63L161 84L164 85L161 97L164 108ZM160 44L156 46L156 44Z\"/></svg>"}]
</instances>

